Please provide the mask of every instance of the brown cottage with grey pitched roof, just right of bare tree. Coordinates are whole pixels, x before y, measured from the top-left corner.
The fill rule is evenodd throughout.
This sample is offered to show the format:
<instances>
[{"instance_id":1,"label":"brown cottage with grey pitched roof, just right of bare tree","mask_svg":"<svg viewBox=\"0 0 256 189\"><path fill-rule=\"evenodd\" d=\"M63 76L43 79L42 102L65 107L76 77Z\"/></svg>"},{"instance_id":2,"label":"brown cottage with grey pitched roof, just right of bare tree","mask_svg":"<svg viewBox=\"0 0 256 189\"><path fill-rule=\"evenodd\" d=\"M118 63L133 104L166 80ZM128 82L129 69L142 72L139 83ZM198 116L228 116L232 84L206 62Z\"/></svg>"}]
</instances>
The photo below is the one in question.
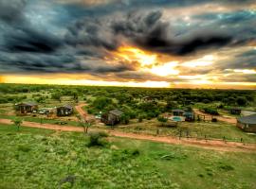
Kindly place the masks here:
<instances>
[{"instance_id":1,"label":"brown cottage with grey pitched roof, just right of bare tree","mask_svg":"<svg viewBox=\"0 0 256 189\"><path fill-rule=\"evenodd\" d=\"M114 126L120 122L120 118L123 112L119 110L113 110L107 113L102 114L101 122L106 125Z\"/></svg>"}]
</instances>

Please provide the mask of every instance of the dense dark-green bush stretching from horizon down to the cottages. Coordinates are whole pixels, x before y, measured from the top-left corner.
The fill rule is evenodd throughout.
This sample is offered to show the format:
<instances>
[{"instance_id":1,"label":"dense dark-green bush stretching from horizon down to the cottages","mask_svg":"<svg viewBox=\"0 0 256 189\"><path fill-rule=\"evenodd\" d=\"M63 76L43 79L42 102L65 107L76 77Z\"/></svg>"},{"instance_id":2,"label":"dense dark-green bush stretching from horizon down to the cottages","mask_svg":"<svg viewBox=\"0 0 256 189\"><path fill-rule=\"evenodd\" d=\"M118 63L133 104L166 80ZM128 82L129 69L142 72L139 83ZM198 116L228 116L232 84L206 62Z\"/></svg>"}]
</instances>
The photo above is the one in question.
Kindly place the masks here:
<instances>
[{"instance_id":1,"label":"dense dark-green bush stretching from horizon down to the cottages","mask_svg":"<svg viewBox=\"0 0 256 189\"><path fill-rule=\"evenodd\" d=\"M40 94L33 94L28 98L27 94L30 93ZM161 112L170 112L177 108L198 107L205 112L218 114L217 109L227 109L232 106L253 109L256 107L256 91L246 90L0 84L0 94L0 103L15 103L22 100L44 103L49 97L62 102L62 96L69 95L74 102L86 100L90 105L88 108L90 113L98 114L119 109L125 112L124 120L151 119Z\"/></svg>"}]
</instances>

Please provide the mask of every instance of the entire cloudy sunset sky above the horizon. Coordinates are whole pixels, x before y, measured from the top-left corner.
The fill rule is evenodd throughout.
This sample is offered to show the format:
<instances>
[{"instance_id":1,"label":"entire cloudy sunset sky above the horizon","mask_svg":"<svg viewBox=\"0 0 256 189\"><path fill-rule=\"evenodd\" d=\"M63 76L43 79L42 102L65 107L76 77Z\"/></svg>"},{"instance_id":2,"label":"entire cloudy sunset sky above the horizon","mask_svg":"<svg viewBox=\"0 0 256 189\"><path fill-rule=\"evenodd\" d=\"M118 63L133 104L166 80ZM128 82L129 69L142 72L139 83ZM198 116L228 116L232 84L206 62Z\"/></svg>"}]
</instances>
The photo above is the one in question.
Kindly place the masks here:
<instances>
[{"instance_id":1,"label":"entire cloudy sunset sky above the horizon","mask_svg":"<svg viewBox=\"0 0 256 189\"><path fill-rule=\"evenodd\" d=\"M256 89L256 3L0 0L0 82Z\"/></svg>"}]
</instances>

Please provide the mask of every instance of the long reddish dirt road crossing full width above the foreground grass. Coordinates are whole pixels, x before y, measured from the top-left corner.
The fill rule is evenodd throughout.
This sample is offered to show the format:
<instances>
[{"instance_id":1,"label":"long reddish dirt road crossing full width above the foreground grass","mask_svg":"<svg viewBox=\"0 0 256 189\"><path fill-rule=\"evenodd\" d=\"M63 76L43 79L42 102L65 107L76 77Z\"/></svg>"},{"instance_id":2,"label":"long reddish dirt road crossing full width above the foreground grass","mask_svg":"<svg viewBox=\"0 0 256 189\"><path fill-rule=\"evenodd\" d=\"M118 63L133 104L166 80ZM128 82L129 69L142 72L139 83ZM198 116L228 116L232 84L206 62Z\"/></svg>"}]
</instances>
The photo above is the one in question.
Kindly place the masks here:
<instances>
[{"instance_id":1,"label":"long reddish dirt road crossing full width above the foreground grass","mask_svg":"<svg viewBox=\"0 0 256 189\"><path fill-rule=\"evenodd\" d=\"M11 125L11 120L9 119L0 119L0 123ZM62 130L62 131L76 131L83 132L83 129L80 127L73 126L59 126L54 124L40 124L34 122L24 121L22 126L29 128L38 128L38 129L53 129L53 130ZM90 131L104 130L109 133L111 136L131 138L145 141L153 141L158 143L174 144L174 145L185 145L185 146L197 146L207 149L214 149L219 151L241 151L241 152L254 152L256 153L256 145L247 144L243 145L241 143L223 141L204 141L204 140L195 140L195 139L181 139L175 137L167 136L153 136L146 134L137 134L137 133L126 133L118 130L109 130L109 129L89 129Z\"/></svg>"}]
</instances>

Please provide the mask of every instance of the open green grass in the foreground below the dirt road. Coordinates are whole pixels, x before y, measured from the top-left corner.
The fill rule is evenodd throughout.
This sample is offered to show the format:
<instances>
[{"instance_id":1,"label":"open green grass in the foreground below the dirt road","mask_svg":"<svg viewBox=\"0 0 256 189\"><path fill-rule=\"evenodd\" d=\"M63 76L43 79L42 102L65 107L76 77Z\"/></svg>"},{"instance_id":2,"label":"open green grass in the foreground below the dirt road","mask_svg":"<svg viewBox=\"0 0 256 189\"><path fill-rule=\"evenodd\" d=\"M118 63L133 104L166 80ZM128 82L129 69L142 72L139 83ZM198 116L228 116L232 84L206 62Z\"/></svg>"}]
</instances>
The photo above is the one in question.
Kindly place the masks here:
<instances>
[{"instance_id":1,"label":"open green grass in the foreground below the dirt road","mask_svg":"<svg viewBox=\"0 0 256 189\"><path fill-rule=\"evenodd\" d=\"M0 126L0 188L256 188L256 154ZM72 184L73 182L73 184Z\"/></svg>"}]
</instances>

